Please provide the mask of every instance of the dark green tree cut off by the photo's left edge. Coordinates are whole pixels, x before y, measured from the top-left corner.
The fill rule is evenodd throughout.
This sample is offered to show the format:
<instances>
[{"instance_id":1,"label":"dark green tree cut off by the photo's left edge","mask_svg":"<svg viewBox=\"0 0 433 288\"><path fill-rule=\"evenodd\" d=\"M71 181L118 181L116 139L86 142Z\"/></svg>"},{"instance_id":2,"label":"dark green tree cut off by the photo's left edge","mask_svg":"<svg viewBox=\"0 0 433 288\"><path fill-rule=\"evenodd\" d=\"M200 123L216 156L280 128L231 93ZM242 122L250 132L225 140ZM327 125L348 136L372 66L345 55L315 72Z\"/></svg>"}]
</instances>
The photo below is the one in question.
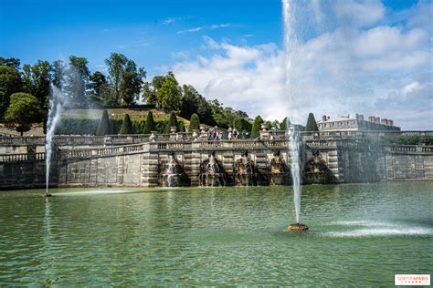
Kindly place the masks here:
<instances>
[{"instance_id":1,"label":"dark green tree cut off by the photo's left edge","mask_svg":"<svg viewBox=\"0 0 433 288\"><path fill-rule=\"evenodd\" d=\"M0 66L0 119L5 116L10 96L21 90L21 77L13 67Z\"/></svg>"}]
</instances>

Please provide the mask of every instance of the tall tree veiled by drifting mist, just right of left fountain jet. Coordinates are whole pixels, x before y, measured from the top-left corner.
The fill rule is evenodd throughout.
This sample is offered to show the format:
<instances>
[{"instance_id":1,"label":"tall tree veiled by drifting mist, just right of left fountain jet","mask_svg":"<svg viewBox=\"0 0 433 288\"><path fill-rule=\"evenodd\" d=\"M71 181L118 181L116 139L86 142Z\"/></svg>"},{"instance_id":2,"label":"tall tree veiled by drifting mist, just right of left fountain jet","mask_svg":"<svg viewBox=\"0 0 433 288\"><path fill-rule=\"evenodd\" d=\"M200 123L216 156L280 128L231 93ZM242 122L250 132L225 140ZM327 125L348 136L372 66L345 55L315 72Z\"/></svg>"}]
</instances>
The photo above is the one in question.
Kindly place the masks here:
<instances>
[{"instance_id":1,"label":"tall tree veiled by drifting mist, just right of left fountain jet","mask_svg":"<svg viewBox=\"0 0 433 288\"><path fill-rule=\"evenodd\" d=\"M73 99L73 106L83 108L87 106L86 85L89 81L90 70L88 60L84 57L69 57L69 97Z\"/></svg>"}]
</instances>

